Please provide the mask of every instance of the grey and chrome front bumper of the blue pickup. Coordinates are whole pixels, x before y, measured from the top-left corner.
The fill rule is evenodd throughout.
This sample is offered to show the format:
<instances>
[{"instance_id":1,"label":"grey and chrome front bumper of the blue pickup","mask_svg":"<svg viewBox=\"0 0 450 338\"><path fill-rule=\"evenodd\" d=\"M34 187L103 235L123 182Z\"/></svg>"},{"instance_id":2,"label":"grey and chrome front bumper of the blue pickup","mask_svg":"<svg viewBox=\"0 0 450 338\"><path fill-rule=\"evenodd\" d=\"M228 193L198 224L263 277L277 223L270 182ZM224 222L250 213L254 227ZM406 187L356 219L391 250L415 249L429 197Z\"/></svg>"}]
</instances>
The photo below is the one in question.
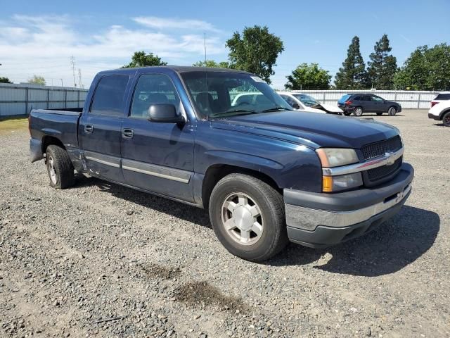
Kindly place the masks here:
<instances>
[{"instance_id":1,"label":"grey and chrome front bumper of the blue pickup","mask_svg":"<svg viewBox=\"0 0 450 338\"><path fill-rule=\"evenodd\" d=\"M404 163L399 174L373 189L337 194L284 190L291 242L326 247L359 237L398 213L411 194L414 170Z\"/></svg>"}]
</instances>

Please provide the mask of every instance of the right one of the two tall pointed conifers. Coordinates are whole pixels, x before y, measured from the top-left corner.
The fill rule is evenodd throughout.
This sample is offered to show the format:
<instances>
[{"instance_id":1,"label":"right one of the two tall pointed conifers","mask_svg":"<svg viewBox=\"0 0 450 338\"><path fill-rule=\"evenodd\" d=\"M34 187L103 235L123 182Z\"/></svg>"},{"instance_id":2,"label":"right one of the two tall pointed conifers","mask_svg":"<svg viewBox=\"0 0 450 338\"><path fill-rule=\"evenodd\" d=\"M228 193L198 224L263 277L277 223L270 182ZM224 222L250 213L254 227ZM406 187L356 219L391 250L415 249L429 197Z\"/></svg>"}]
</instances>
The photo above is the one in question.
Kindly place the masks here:
<instances>
[{"instance_id":1,"label":"right one of the two tall pointed conifers","mask_svg":"<svg viewBox=\"0 0 450 338\"><path fill-rule=\"evenodd\" d=\"M373 47L374 52L369 56L367 73L372 87L377 89L392 89L394 75L397 72L397 58L390 54L392 48L389 45L387 35L383 35Z\"/></svg>"}]
</instances>

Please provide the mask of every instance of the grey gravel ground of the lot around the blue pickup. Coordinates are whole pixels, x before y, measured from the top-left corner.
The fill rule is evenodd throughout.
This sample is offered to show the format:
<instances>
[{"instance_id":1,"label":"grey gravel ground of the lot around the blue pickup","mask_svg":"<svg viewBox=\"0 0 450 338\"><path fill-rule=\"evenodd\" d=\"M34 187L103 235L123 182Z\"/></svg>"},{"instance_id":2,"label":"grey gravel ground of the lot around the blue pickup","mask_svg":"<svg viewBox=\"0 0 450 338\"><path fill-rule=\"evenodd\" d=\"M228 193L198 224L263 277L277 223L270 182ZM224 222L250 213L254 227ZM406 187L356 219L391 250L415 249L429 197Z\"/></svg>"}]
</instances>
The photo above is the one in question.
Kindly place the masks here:
<instances>
[{"instance_id":1,"label":"grey gravel ground of the lot around the blue pickup","mask_svg":"<svg viewBox=\"0 0 450 338\"><path fill-rule=\"evenodd\" d=\"M203 210L82 175L52 189L27 131L0 133L0 337L450 337L450 128L374 118L416 169L401 213L265 264L231 256Z\"/></svg>"}]
</instances>

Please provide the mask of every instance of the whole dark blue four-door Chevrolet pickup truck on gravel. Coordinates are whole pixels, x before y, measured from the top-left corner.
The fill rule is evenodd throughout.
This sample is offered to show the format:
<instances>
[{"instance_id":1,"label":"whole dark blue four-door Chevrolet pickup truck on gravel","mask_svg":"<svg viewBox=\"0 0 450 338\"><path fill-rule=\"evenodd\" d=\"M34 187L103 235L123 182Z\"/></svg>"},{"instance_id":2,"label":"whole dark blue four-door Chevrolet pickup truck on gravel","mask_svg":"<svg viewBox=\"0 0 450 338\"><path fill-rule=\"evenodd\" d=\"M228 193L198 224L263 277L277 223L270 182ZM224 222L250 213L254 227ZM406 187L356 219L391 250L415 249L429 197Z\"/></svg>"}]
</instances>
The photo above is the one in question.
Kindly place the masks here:
<instances>
[{"instance_id":1,"label":"whole dark blue four-door Chevrolet pickup truck on gravel","mask_svg":"<svg viewBox=\"0 0 450 338\"><path fill-rule=\"evenodd\" d=\"M261 93L233 104L238 94ZM51 187L74 171L210 213L231 253L264 261L373 230L411 192L397 128L293 111L256 75L147 67L98 73L84 108L30 113L32 162Z\"/></svg>"}]
</instances>

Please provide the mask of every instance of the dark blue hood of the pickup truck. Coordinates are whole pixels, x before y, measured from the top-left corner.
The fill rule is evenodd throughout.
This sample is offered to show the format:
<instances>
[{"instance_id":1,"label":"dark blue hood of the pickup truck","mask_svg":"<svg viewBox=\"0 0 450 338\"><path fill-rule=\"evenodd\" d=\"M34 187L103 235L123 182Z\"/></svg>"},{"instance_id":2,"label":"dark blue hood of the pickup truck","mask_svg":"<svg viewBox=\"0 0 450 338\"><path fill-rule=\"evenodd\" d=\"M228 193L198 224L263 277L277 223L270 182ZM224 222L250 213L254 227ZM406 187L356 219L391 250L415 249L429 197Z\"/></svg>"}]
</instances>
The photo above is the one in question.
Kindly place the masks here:
<instances>
[{"instance_id":1,"label":"dark blue hood of the pickup truck","mask_svg":"<svg viewBox=\"0 0 450 338\"><path fill-rule=\"evenodd\" d=\"M399 134L385 123L341 115L278 111L211 120L211 127L258 134L303 144L314 149L339 147L359 149Z\"/></svg>"}]
</instances>

